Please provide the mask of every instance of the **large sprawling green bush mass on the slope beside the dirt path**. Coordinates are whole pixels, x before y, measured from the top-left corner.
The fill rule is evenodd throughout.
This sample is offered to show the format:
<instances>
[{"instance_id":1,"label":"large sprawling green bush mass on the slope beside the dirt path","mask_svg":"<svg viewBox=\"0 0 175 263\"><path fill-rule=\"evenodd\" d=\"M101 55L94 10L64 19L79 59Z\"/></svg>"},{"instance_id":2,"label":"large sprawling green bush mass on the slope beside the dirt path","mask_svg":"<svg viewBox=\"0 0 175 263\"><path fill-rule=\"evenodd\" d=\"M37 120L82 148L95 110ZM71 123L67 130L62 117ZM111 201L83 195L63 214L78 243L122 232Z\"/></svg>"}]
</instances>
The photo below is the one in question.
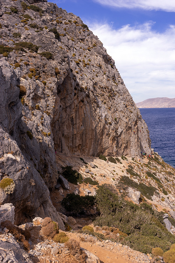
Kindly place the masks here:
<instances>
[{"instance_id":1,"label":"large sprawling green bush mass on the slope beside the dirt path","mask_svg":"<svg viewBox=\"0 0 175 263\"><path fill-rule=\"evenodd\" d=\"M94 226L119 228L124 234L122 243L143 253L151 253L155 247L168 250L175 236L166 229L163 213L146 203L133 204L115 191L106 184L99 186L95 201L101 216L95 219Z\"/></svg>"}]
</instances>

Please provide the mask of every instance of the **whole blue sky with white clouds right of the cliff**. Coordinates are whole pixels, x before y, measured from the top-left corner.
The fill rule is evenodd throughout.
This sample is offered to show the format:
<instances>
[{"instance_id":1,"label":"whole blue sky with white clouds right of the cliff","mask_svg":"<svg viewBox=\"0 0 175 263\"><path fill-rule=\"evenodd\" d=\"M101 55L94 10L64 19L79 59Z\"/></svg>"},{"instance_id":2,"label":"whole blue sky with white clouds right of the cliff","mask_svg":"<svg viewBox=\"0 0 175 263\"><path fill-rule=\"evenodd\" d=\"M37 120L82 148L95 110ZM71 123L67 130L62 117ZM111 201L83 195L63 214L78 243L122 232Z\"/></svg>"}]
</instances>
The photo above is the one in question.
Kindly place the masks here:
<instances>
[{"instance_id":1,"label":"whole blue sky with white clouds right of the cliff","mask_svg":"<svg viewBox=\"0 0 175 263\"><path fill-rule=\"evenodd\" d=\"M175 0L54 0L98 36L135 103L175 98Z\"/></svg>"}]
</instances>

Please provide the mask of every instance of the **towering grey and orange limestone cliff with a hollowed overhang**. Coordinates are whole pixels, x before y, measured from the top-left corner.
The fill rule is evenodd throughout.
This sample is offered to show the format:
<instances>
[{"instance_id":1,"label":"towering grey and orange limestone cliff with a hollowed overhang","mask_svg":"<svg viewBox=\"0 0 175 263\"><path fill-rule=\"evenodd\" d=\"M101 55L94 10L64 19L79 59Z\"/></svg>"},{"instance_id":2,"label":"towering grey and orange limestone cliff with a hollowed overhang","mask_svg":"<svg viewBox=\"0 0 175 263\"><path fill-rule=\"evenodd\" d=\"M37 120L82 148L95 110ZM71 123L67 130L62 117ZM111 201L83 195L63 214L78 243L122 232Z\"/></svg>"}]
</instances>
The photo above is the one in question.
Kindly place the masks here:
<instances>
[{"instance_id":1,"label":"towering grey and orange limestone cliff with a hollowed overhang","mask_svg":"<svg viewBox=\"0 0 175 263\"><path fill-rule=\"evenodd\" d=\"M0 0L0 176L15 222L59 218L49 199L66 154L150 153L149 131L114 60L73 13L40 0ZM26 219L27 220L27 219Z\"/></svg>"}]
</instances>

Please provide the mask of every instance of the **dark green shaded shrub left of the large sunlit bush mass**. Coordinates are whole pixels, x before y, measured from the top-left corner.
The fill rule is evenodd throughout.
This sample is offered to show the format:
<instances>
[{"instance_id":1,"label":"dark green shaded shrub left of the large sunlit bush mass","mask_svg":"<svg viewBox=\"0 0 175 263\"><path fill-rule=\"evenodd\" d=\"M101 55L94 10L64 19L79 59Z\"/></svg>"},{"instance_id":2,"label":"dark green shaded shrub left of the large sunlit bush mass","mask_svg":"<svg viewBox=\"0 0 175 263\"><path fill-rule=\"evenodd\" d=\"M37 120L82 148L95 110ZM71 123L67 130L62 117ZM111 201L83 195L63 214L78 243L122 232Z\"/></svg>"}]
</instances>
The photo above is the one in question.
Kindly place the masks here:
<instances>
[{"instance_id":1,"label":"dark green shaded shrub left of the large sunlit bush mass","mask_svg":"<svg viewBox=\"0 0 175 263\"><path fill-rule=\"evenodd\" d=\"M68 211L73 214L86 213L94 205L94 196L80 196L75 195L74 193L67 194L63 198L61 205Z\"/></svg>"}]
</instances>

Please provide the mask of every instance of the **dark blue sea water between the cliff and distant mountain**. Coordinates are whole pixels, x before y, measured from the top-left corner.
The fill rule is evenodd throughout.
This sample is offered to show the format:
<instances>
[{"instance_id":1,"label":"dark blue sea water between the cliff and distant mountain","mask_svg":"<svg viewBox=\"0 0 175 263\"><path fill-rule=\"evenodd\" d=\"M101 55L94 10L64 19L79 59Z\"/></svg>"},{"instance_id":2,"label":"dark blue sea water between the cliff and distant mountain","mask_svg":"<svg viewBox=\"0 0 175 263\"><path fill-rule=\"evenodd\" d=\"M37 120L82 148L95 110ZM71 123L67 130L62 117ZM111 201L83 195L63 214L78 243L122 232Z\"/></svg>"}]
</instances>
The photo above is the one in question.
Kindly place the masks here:
<instances>
[{"instance_id":1,"label":"dark blue sea water between the cliff and distant mountain","mask_svg":"<svg viewBox=\"0 0 175 263\"><path fill-rule=\"evenodd\" d=\"M175 167L175 108L140 109L149 129L151 148Z\"/></svg>"}]
</instances>

